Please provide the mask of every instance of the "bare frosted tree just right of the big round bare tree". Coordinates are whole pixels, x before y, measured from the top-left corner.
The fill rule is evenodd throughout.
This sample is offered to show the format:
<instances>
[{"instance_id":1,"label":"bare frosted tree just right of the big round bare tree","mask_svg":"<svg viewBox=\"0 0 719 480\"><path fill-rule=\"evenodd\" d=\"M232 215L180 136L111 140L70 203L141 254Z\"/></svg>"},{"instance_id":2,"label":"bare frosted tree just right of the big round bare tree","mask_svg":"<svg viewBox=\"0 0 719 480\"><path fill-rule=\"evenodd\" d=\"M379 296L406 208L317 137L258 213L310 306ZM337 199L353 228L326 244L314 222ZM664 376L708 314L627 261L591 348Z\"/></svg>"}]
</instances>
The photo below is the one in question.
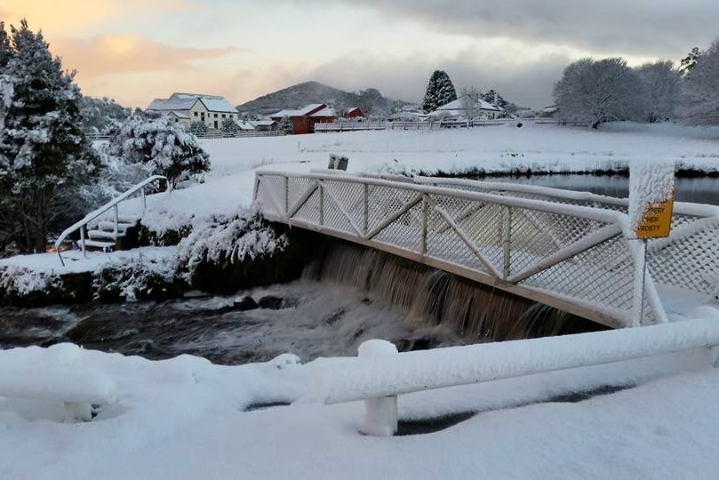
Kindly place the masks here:
<instances>
[{"instance_id":1,"label":"bare frosted tree just right of the big round bare tree","mask_svg":"<svg viewBox=\"0 0 719 480\"><path fill-rule=\"evenodd\" d=\"M674 116L682 76L670 60L645 63L636 71L642 78L646 94L645 118L650 123Z\"/></svg>"}]
</instances>

